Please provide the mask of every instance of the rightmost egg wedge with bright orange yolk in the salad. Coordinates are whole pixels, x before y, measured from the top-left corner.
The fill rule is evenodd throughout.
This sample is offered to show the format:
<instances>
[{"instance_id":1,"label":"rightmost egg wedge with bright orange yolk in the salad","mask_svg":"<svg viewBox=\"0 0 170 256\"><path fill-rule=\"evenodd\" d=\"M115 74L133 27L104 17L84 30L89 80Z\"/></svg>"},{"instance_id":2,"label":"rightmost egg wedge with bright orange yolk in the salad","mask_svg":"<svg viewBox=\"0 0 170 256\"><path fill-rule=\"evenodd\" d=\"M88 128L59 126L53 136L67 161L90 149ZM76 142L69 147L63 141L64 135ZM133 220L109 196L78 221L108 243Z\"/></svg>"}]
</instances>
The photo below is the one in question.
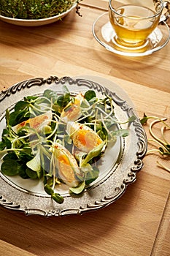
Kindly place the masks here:
<instances>
[{"instance_id":1,"label":"rightmost egg wedge with bright orange yolk in the salad","mask_svg":"<svg viewBox=\"0 0 170 256\"><path fill-rule=\"evenodd\" d=\"M72 138L74 146L86 153L103 143L103 140L101 140L98 134L85 124L69 121L66 131Z\"/></svg>"}]
</instances>

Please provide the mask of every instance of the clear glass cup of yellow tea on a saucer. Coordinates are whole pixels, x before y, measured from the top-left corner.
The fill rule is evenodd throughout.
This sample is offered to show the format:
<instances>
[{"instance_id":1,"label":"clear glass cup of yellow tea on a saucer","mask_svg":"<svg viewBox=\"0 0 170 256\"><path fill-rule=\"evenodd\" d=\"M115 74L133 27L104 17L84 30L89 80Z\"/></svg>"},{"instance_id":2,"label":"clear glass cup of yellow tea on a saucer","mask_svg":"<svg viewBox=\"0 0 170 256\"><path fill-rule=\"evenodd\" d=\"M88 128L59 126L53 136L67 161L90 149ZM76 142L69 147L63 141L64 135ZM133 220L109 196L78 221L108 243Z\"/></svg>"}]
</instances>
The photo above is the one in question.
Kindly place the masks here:
<instances>
[{"instance_id":1,"label":"clear glass cup of yellow tea on a saucer","mask_svg":"<svg viewBox=\"0 0 170 256\"><path fill-rule=\"evenodd\" d=\"M142 48L158 26L162 0L109 0L109 20L115 30L115 44L122 48Z\"/></svg>"}]
</instances>

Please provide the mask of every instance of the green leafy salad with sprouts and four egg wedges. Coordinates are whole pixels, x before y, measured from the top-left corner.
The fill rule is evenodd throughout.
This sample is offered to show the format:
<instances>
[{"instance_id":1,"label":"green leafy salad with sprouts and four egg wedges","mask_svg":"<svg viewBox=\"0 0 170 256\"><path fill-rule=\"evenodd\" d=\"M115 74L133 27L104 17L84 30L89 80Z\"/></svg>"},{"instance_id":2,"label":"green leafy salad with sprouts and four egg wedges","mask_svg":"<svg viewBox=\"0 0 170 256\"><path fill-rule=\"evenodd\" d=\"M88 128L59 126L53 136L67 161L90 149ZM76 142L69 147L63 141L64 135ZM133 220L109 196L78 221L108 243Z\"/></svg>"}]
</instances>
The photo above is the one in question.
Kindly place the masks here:
<instances>
[{"instance_id":1,"label":"green leafy salad with sprouts and four egg wedges","mask_svg":"<svg viewBox=\"0 0 170 256\"><path fill-rule=\"evenodd\" d=\"M135 116L120 129L113 99L96 92L71 94L66 86L59 94L47 89L27 96L6 110L1 134L1 173L39 179L45 192L63 203L58 186L66 184L72 196L80 196L98 178L98 161L109 142L128 135ZM125 123L123 122L123 123Z\"/></svg>"}]
</instances>

